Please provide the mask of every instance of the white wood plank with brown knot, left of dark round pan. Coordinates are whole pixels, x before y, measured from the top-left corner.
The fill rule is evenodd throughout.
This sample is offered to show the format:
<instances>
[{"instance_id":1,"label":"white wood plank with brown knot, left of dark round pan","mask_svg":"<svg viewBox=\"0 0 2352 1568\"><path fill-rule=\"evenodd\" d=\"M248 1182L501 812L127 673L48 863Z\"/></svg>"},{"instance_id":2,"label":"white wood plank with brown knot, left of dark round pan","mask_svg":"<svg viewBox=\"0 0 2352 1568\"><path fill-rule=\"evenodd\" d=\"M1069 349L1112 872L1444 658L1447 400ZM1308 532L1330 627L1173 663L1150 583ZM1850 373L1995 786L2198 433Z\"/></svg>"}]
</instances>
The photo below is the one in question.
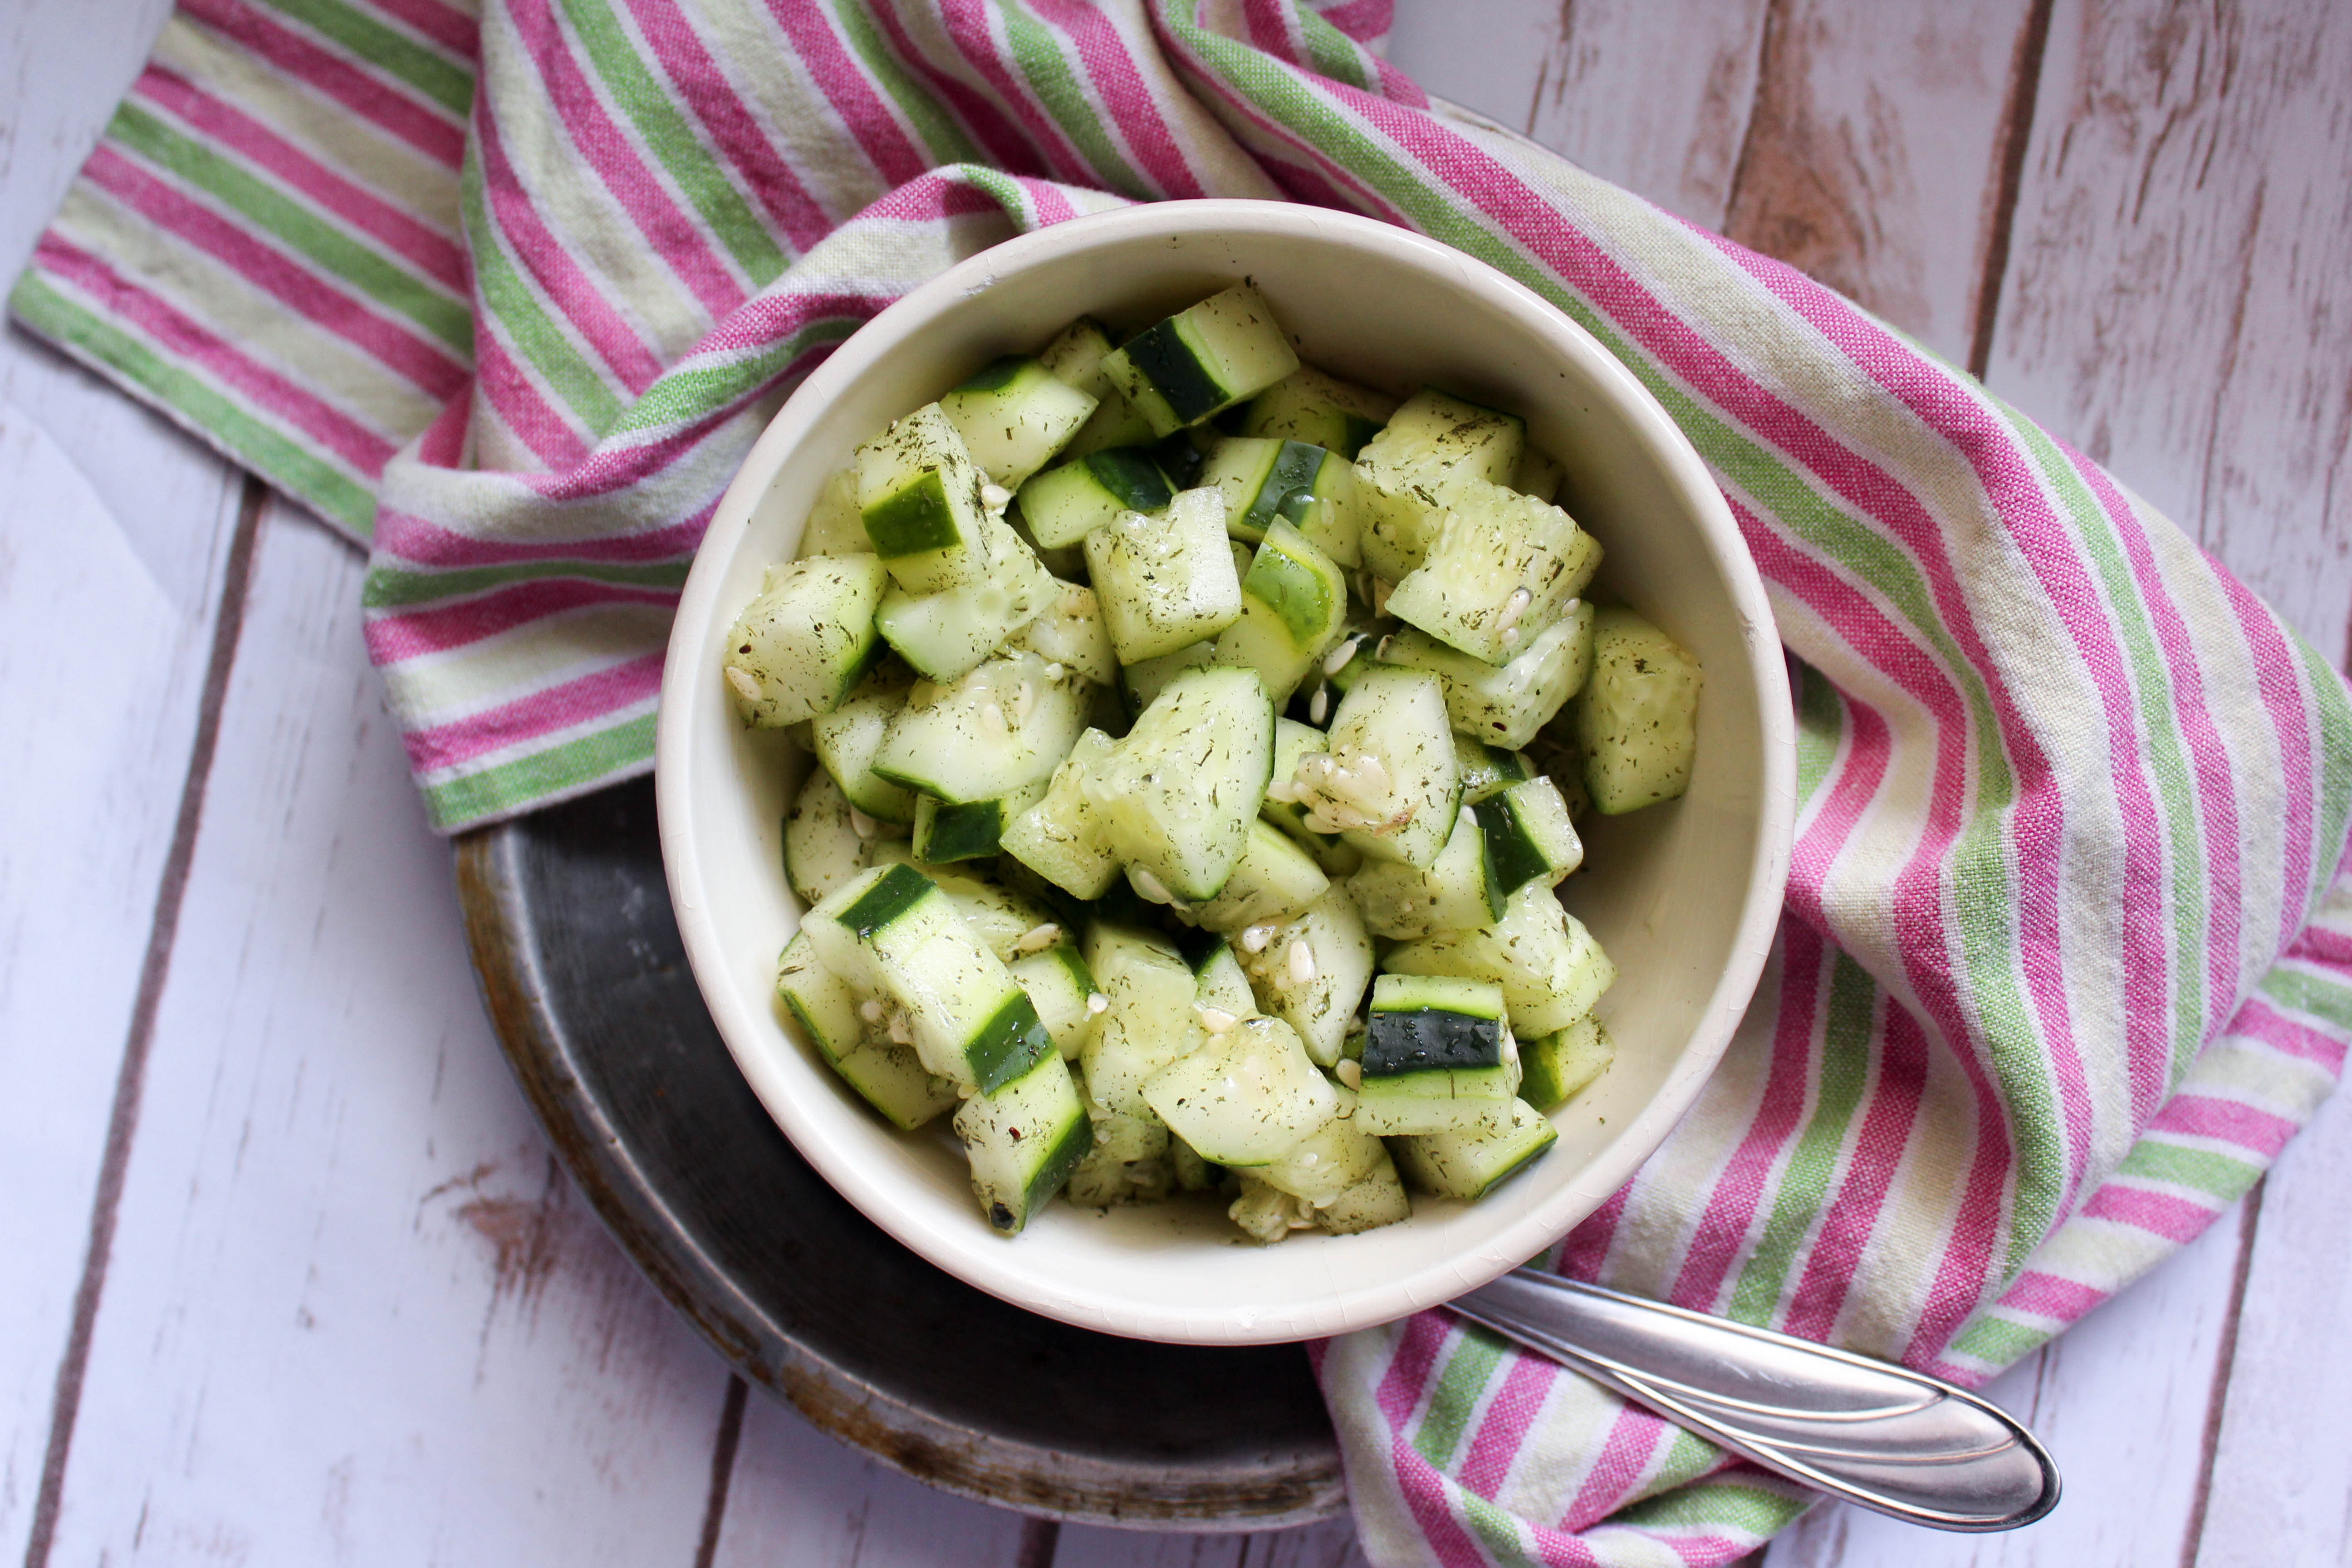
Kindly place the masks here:
<instances>
[{"instance_id":1,"label":"white wood plank with brown knot, left of dark round pan","mask_svg":"<svg viewBox=\"0 0 2352 1568\"><path fill-rule=\"evenodd\" d=\"M270 515L52 1561L684 1561L727 1375L489 1039L358 576Z\"/></svg>"}]
</instances>

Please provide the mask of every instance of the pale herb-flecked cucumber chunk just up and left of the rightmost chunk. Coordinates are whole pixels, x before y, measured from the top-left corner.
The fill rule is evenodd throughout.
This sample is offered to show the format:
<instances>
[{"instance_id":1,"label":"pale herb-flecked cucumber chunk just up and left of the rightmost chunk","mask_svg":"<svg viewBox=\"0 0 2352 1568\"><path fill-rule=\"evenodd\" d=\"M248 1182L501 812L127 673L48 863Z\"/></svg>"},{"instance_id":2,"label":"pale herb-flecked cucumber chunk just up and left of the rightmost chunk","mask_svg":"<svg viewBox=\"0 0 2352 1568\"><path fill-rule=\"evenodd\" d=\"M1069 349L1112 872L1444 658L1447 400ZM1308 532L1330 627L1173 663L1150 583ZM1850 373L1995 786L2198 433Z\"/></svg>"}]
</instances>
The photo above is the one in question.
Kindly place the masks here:
<instances>
[{"instance_id":1,"label":"pale herb-flecked cucumber chunk just up and left of the rightmost chunk","mask_svg":"<svg viewBox=\"0 0 2352 1568\"><path fill-rule=\"evenodd\" d=\"M1430 550L1388 595L1388 614L1491 665L1529 646L1576 604L1602 548L1557 505L1463 480Z\"/></svg>"}]
</instances>

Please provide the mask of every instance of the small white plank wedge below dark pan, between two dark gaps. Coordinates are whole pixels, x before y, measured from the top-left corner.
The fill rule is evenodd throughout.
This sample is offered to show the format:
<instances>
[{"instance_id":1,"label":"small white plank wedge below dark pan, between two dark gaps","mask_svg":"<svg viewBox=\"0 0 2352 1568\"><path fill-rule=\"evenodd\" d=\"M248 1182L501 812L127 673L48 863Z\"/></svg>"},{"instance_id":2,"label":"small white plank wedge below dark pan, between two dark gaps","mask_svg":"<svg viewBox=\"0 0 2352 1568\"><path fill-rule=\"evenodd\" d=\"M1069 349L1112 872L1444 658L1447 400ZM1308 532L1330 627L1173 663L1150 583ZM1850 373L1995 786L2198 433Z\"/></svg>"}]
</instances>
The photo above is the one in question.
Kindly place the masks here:
<instances>
[{"instance_id":1,"label":"small white plank wedge below dark pan, between two dark gaps","mask_svg":"<svg viewBox=\"0 0 2352 1568\"><path fill-rule=\"evenodd\" d=\"M1044 1568L1030 1521L950 1497L753 1394L713 1568ZM1058 1559L1047 1559L1058 1561Z\"/></svg>"}]
</instances>

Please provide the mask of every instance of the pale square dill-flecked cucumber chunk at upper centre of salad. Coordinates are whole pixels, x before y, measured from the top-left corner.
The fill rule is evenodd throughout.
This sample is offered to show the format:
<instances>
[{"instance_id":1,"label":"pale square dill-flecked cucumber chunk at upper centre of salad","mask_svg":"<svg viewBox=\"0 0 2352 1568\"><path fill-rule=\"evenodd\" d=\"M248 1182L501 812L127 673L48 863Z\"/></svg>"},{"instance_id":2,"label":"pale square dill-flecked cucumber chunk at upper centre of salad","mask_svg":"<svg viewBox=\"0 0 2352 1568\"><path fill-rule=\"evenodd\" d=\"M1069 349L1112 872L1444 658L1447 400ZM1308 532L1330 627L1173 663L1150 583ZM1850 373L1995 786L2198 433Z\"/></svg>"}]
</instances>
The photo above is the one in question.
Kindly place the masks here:
<instances>
[{"instance_id":1,"label":"pale square dill-flecked cucumber chunk at upper centre of salad","mask_svg":"<svg viewBox=\"0 0 2352 1568\"><path fill-rule=\"evenodd\" d=\"M1087 576L1122 665L1216 637L1242 618L1225 498L1214 489L1178 491L1160 515L1120 512L1087 534Z\"/></svg>"}]
</instances>

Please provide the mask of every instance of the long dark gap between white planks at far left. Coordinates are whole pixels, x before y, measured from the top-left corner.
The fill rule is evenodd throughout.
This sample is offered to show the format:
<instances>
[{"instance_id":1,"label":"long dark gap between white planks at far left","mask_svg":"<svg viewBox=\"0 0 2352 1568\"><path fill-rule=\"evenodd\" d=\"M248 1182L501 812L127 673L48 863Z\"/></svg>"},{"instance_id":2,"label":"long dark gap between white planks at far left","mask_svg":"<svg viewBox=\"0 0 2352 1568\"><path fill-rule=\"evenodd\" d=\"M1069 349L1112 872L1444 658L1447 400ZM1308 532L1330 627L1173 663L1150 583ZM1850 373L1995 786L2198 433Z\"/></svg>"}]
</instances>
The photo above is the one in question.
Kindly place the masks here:
<instances>
[{"instance_id":1,"label":"long dark gap between white planks at far left","mask_svg":"<svg viewBox=\"0 0 2352 1568\"><path fill-rule=\"evenodd\" d=\"M82 1375L89 1371L89 1340L99 1321L99 1298L106 1293L106 1265L113 1258L122 1175L129 1168L132 1140L139 1135L139 1103L146 1088L148 1051L155 1044L155 1009L172 973L179 910L188 891L188 867L195 860L195 837L205 823L205 785L212 780L212 759L221 741L221 708L228 701L228 677L238 663L238 639L245 630L245 602L254 581L254 555L268 498L268 487L247 475L238 498L238 527L228 541L228 567L221 574L221 602L212 621L212 651L205 661L205 689L198 701L188 771L179 790L179 813L172 820L172 849L165 853L158 879L155 917L139 966L139 992L122 1041L115 1098L106 1117L106 1152L99 1159L99 1187L89 1204L89 1248L82 1258L82 1279L73 1291L73 1326L66 1333L66 1354L56 1366L56 1394L49 1401L49 1446L40 1462L40 1493L33 1500L33 1530L24 1552L26 1568L47 1568L49 1544L56 1540L56 1509L66 1490L66 1462L73 1458L73 1422L82 1406Z\"/></svg>"}]
</instances>

